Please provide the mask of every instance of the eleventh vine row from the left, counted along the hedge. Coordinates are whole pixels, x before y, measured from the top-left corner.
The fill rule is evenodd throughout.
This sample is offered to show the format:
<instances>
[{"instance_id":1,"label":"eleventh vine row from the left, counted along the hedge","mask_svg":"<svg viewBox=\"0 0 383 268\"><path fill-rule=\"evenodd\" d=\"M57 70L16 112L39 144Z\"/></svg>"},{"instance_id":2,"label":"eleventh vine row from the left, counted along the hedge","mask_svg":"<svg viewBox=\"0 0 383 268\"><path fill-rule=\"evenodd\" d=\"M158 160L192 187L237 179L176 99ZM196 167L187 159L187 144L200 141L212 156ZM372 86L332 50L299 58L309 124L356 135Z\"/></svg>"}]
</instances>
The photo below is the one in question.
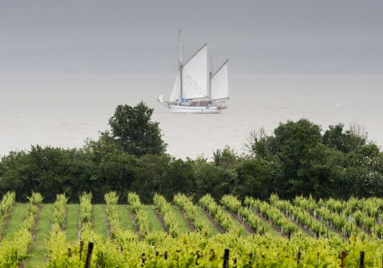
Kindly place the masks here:
<instances>
[{"instance_id":1,"label":"eleventh vine row from the left, counted along the hedge","mask_svg":"<svg viewBox=\"0 0 383 268\"><path fill-rule=\"evenodd\" d=\"M298 231L297 226L290 221L280 210L266 202L246 197L244 204L251 210L262 214L268 221L271 221L276 228L279 228L285 235L290 237L294 232Z\"/></svg>"}]
</instances>

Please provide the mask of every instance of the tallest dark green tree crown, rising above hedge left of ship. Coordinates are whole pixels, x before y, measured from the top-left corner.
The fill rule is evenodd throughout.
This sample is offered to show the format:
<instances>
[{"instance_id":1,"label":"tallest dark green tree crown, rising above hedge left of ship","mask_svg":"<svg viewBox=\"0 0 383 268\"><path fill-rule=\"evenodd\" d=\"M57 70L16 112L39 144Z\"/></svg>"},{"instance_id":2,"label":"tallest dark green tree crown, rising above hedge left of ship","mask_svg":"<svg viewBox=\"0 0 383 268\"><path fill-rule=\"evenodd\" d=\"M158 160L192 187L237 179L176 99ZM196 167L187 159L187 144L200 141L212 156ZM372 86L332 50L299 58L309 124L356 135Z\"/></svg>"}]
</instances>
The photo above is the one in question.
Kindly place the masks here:
<instances>
[{"instance_id":1,"label":"tallest dark green tree crown, rising above hedge left of ship","mask_svg":"<svg viewBox=\"0 0 383 268\"><path fill-rule=\"evenodd\" d=\"M153 108L140 102L135 107L118 105L109 119L111 134L118 148L127 154L161 155L166 150L159 123L150 120Z\"/></svg>"}]
</instances>

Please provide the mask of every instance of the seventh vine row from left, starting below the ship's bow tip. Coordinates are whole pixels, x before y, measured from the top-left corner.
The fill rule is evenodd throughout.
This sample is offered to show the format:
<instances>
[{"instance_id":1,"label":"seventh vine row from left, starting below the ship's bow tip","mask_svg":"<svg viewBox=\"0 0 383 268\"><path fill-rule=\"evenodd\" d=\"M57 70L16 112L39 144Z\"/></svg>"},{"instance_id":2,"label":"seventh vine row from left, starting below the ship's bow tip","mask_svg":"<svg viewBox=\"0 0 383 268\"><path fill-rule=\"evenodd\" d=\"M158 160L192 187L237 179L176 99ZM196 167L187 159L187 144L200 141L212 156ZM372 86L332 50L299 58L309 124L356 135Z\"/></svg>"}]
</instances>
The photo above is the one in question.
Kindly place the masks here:
<instances>
[{"instance_id":1,"label":"seventh vine row from left, starting below the ship's bow tip","mask_svg":"<svg viewBox=\"0 0 383 268\"><path fill-rule=\"evenodd\" d=\"M164 222L169 230L169 234L172 237L178 237L181 231L178 226L176 216L171 209L171 204L166 201L164 196L159 194L155 194L153 202L155 203L157 210L159 210L159 213L161 213L162 217L164 218Z\"/></svg>"}]
</instances>

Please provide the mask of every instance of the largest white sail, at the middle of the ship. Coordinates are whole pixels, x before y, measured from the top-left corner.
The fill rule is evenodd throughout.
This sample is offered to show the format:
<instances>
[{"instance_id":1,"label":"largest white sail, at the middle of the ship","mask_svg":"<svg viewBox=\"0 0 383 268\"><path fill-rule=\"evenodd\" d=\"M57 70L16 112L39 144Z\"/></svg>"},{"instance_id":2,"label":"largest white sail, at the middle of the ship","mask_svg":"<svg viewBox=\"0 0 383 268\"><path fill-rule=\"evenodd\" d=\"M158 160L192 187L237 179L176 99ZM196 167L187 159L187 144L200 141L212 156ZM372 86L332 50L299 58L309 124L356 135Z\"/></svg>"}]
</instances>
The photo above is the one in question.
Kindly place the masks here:
<instances>
[{"instance_id":1,"label":"largest white sail, at the middle of the ship","mask_svg":"<svg viewBox=\"0 0 383 268\"><path fill-rule=\"evenodd\" d=\"M182 67L182 98L208 97L208 45Z\"/></svg>"}]
</instances>

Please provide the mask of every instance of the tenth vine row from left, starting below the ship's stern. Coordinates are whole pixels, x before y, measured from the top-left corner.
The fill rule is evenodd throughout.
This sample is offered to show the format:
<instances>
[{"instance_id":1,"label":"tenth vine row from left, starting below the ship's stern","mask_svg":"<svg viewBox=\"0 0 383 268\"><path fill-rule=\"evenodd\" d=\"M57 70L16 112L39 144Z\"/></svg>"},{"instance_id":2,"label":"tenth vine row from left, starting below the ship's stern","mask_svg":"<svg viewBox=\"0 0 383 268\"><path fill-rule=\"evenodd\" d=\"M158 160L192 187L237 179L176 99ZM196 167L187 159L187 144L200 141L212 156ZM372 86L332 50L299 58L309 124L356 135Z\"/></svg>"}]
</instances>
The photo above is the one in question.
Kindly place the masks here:
<instances>
[{"instance_id":1,"label":"tenth vine row from left, starting below the ship's stern","mask_svg":"<svg viewBox=\"0 0 383 268\"><path fill-rule=\"evenodd\" d=\"M231 212L236 212L242 221L250 226L259 235L264 235L269 232L270 228L267 226L254 212L247 207L242 207L242 203L233 195L225 195L221 198L221 205L224 205Z\"/></svg>"}]
</instances>

